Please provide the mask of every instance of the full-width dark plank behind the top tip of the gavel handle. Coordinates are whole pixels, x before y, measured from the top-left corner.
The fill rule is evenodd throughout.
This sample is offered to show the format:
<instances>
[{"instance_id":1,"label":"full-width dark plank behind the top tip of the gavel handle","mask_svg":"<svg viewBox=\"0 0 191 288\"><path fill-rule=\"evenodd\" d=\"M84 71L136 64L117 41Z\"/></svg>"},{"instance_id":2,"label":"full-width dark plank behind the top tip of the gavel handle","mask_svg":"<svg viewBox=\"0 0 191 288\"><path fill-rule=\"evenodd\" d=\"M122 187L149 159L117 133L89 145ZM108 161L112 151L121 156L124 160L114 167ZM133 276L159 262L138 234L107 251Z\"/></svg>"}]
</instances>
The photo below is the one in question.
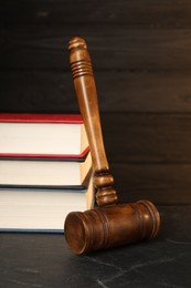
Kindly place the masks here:
<instances>
[{"instance_id":1,"label":"full-width dark plank behind the top tip of the gavel handle","mask_svg":"<svg viewBox=\"0 0 191 288\"><path fill-rule=\"evenodd\" d=\"M1 70L68 69L68 56L63 49L74 34L88 39L95 70L191 69L189 29L29 25L8 27L0 31Z\"/></svg>"}]
</instances>

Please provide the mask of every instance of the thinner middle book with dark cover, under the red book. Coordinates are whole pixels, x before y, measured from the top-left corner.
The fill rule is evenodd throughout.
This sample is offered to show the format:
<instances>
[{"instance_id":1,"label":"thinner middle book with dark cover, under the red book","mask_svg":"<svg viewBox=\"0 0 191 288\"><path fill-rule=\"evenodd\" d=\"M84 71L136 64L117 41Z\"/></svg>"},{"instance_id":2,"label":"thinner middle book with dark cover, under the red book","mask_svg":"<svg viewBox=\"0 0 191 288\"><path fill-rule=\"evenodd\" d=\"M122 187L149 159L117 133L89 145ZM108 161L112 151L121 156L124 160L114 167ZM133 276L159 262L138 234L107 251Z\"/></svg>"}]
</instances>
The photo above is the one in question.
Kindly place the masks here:
<instances>
[{"instance_id":1,"label":"thinner middle book with dark cover, under the red book","mask_svg":"<svg viewBox=\"0 0 191 288\"><path fill-rule=\"evenodd\" d=\"M0 158L0 186L78 186L92 167L91 153L82 158Z\"/></svg>"}]
</instances>

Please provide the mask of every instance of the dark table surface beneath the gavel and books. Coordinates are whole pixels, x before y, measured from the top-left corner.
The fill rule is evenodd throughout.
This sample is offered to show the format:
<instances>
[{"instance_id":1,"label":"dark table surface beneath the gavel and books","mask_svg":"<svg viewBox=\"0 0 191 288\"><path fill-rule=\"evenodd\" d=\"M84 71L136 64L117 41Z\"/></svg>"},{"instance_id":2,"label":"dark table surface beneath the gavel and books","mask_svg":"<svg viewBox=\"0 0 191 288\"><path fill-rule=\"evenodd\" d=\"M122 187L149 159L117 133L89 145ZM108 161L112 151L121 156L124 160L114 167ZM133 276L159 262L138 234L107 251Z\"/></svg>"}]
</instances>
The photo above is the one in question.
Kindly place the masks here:
<instances>
[{"instance_id":1,"label":"dark table surface beneath the gavel and books","mask_svg":"<svg viewBox=\"0 0 191 288\"><path fill-rule=\"evenodd\" d=\"M152 241L73 255L63 235L0 234L0 287L191 287L191 206L159 206Z\"/></svg>"}]
</instances>

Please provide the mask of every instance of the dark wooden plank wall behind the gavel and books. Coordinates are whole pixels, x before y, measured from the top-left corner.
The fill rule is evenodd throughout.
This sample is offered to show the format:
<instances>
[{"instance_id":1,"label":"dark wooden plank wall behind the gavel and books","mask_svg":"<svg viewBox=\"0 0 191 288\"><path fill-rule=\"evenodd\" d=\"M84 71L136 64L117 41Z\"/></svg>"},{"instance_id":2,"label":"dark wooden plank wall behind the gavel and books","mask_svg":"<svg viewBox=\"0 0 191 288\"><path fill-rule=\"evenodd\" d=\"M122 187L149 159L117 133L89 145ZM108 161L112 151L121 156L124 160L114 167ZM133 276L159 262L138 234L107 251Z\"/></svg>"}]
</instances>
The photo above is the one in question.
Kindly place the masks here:
<instances>
[{"instance_id":1,"label":"dark wooden plank wall behind the gavel and books","mask_svg":"<svg viewBox=\"0 0 191 288\"><path fill-rule=\"evenodd\" d=\"M88 43L120 199L191 204L191 2L1 1L0 112L78 112L73 35Z\"/></svg>"}]
</instances>

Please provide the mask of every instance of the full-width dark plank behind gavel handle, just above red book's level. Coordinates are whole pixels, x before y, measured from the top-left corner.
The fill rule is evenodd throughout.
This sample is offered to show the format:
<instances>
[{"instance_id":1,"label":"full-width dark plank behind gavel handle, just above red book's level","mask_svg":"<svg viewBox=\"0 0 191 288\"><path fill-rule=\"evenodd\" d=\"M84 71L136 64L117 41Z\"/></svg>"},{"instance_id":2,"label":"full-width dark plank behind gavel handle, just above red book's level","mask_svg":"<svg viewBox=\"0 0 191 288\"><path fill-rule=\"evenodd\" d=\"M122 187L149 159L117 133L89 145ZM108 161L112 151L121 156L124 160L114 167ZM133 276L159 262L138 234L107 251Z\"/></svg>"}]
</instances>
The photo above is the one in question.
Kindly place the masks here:
<instances>
[{"instance_id":1,"label":"full-width dark plank behind gavel handle, just above red book's level","mask_svg":"<svg viewBox=\"0 0 191 288\"><path fill-rule=\"evenodd\" d=\"M70 69L1 71L0 79L1 112L78 112ZM96 70L95 80L102 113L191 112L189 71Z\"/></svg>"}]
</instances>

